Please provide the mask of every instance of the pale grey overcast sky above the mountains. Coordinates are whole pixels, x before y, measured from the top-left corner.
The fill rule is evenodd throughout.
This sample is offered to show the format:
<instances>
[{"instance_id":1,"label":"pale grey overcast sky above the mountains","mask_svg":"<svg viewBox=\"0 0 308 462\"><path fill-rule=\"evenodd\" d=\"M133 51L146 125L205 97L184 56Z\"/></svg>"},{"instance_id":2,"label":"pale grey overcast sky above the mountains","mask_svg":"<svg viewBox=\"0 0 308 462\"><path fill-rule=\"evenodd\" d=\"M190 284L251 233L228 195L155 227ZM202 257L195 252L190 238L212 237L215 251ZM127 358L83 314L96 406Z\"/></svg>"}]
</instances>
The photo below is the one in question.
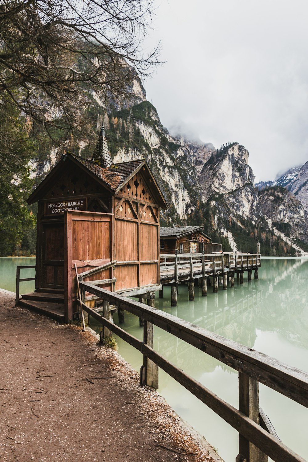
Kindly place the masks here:
<instances>
[{"instance_id":1,"label":"pale grey overcast sky above the mountains","mask_svg":"<svg viewBox=\"0 0 308 462\"><path fill-rule=\"evenodd\" d=\"M308 161L307 0L158 0L145 82L171 132L244 145L256 181Z\"/></svg>"}]
</instances>

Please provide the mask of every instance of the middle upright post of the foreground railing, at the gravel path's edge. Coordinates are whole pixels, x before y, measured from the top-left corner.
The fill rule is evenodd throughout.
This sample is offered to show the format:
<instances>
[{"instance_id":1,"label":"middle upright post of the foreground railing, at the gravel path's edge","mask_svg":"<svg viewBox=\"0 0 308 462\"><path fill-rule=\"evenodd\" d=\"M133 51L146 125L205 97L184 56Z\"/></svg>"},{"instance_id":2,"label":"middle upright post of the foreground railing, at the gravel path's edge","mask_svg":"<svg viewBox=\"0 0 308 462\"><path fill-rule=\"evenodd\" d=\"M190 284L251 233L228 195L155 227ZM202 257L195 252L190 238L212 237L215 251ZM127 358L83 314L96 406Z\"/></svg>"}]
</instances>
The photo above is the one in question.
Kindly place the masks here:
<instances>
[{"instance_id":1,"label":"middle upright post of the foreground railing, at the gravel path's edge","mask_svg":"<svg viewBox=\"0 0 308 462\"><path fill-rule=\"evenodd\" d=\"M148 298L148 305L154 308L155 304L155 293L150 294ZM143 325L143 341L146 345L153 348L154 346L154 326L151 322L144 321ZM148 359L145 355L143 356L143 366L140 371L140 384L147 385L154 389L158 389L158 366L153 363L151 359Z\"/></svg>"}]
</instances>

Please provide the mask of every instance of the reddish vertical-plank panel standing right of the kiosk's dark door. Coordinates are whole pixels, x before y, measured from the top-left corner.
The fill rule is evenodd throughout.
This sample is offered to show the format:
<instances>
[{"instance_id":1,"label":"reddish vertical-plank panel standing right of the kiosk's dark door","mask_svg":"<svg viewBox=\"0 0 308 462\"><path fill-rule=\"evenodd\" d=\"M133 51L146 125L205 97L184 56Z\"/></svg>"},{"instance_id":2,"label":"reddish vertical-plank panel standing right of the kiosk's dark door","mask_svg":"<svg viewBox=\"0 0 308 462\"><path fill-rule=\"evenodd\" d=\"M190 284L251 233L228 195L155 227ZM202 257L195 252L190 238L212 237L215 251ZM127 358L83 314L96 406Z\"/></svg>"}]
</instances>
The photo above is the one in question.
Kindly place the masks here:
<instances>
[{"instance_id":1,"label":"reddish vertical-plank panel standing right of the kiosk's dark door","mask_svg":"<svg viewBox=\"0 0 308 462\"><path fill-rule=\"evenodd\" d=\"M113 246L113 215L111 213L79 212L66 210L64 214L65 242L65 317L72 319L74 301L77 296L75 266L79 273L111 261ZM109 279L113 277L110 268L97 273L93 279ZM107 287L104 287L107 289Z\"/></svg>"}]
</instances>

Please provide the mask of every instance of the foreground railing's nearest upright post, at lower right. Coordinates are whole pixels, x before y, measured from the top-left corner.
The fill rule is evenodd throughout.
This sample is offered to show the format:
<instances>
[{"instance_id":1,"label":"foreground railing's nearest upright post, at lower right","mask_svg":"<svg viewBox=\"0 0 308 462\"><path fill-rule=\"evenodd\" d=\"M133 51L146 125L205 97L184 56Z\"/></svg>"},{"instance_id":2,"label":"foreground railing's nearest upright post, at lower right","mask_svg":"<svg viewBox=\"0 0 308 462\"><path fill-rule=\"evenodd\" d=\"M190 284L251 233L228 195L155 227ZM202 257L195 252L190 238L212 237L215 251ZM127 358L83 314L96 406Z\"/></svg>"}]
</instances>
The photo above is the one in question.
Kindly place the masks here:
<instances>
[{"instance_id":1,"label":"foreground railing's nearest upright post, at lower right","mask_svg":"<svg viewBox=\"0 0 308 462\"><path fill-rule=\"evenodd\" d=\"M239 411L260 424L259 382L239 371ZM239 453L247 462L267 462L268 457L239 434ZM244 460L243 459L243 460Z\"/></svg>"}]
</instances>

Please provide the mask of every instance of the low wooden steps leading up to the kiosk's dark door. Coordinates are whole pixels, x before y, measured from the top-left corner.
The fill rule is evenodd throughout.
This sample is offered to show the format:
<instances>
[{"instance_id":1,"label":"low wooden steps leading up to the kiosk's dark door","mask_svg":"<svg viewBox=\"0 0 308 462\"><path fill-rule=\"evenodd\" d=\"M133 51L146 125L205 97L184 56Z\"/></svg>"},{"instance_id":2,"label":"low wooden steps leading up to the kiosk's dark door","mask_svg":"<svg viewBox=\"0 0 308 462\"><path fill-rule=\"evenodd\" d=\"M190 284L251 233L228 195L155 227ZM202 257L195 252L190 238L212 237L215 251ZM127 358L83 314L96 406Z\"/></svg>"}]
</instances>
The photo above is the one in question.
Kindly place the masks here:
<instances>
[{"instance_id":1,"label":"low wooden steps leading up to the kiosk's dark door","mask_svg":"<svg viewBox=\"0 0 308 462\"><path fill-rule=\"evenodd\" d=\"M27 293L19 299L19 304L37 311L56 321L64 322L64 295L49 292Z\"/></svg>"}]
</instances>

